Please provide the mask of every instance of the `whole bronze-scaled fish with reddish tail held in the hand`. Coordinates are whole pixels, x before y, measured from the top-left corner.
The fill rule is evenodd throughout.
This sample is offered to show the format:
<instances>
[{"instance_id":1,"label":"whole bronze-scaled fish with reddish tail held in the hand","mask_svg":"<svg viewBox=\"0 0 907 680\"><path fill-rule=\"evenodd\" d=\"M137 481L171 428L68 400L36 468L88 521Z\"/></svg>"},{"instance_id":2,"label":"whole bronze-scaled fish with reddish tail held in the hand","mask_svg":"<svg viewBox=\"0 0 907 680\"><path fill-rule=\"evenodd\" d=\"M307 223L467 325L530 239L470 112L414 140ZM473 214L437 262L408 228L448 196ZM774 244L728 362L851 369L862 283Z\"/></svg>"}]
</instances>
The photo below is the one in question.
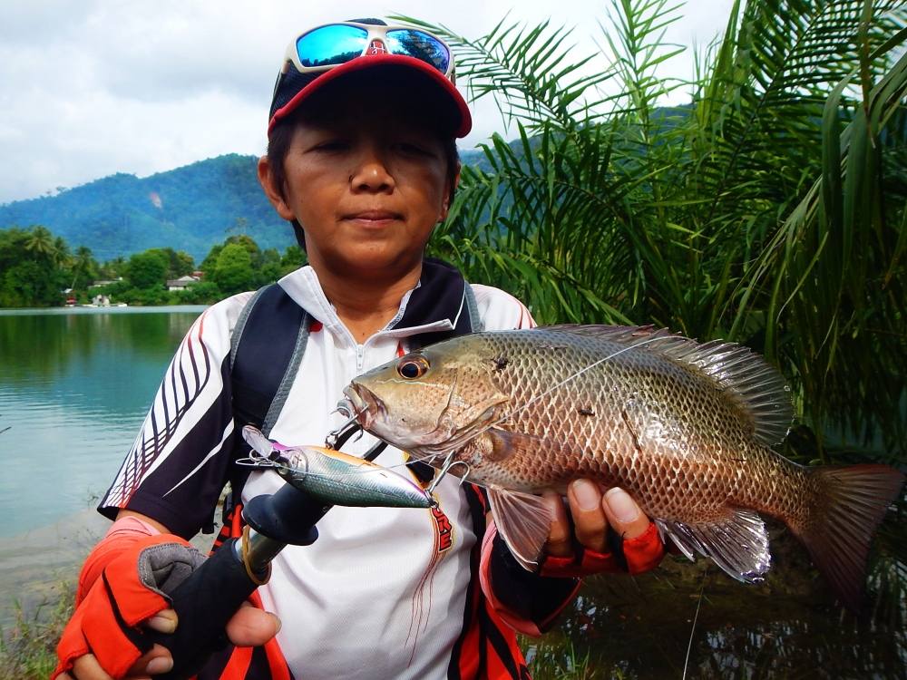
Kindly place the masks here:
<instances>
[{"instance_id":1,"label":"whole bronze-scaled fish with reddish tail held in the hand","mask_svg":"<svg viewBox=\"0 0 907 680\"><path fill-rule=\"evenodd\" d=\"M744 345L653 326L555 325L463 335L357 376L345 408L418 461L483 486L498 532L538 568L538 495L619 486L688 557L763 580L762 514L785 522L834 592L862 598L874 530L903 483L882 464L805 467L775 449L794 418L784 377Z\"/></svg>"}]
</instances>

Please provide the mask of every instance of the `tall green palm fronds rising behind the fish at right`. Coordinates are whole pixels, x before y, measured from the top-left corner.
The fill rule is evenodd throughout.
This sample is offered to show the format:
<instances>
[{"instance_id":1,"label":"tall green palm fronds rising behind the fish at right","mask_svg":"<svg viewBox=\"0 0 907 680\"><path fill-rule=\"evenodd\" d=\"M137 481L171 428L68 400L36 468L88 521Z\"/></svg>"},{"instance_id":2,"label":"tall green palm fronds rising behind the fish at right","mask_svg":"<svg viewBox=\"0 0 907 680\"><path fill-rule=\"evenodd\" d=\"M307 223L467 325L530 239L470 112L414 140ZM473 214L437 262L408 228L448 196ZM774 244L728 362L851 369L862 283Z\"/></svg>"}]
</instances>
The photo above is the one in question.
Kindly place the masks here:
<instances>
[{"instance_id":1,"label":"tall green palm fronds rising behind the fish at right","mask_svg":"<svg viewBox=\"0 0 907 680\"><path fill-rule=\"evenodd\" d=\"M463 170L434 252L542 322L746 343L785 373L820 447L907 454L907 7L738 0L679 84L658 77L678 7L610 10L597 59L548 23L440 28L517 136ZM659 108L687 84L687 105Z\"/></svg>"}]
</instances>

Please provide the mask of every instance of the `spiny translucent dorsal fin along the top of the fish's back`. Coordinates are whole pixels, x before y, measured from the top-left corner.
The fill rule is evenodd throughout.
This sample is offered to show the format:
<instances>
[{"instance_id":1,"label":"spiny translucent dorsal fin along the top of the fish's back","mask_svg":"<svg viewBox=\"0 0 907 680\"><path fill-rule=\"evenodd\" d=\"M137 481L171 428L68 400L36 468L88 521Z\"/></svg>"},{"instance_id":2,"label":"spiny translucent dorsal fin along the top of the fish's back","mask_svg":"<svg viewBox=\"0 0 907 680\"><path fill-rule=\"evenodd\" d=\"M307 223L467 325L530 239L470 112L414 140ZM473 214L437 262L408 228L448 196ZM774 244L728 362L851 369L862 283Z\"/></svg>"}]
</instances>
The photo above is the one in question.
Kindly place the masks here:
<instances>
[{"instance_id":1,"label":"spiny translucent dorsal fin along the top of the fish's back","mask_svg":"<svg viewBox=\"0 0 907 680\"><path fill-rule=\"evenodd\" d=\"M540 330L596 337L620 345L645 343L640 350L657 353L704 374L732 396L753 425L756 440L772 446L784 440L794 407L784 376L749 347L712 340L697 343L651 325L550 325Z\"/></svg>"}]
</instances>

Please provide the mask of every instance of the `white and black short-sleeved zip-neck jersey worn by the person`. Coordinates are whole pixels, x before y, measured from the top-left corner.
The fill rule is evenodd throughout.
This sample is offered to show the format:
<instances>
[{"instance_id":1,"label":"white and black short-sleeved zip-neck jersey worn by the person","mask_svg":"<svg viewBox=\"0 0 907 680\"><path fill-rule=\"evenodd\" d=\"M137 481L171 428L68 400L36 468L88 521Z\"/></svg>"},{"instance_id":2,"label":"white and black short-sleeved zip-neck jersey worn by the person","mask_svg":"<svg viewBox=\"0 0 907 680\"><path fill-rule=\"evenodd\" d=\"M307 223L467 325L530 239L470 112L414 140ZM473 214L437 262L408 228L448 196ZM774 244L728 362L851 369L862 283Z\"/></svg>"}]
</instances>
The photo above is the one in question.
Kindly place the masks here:
<instances>
[{"instance_id":1,"label":"white and black short-sleeved zip-neck jersey worn by the person","mask_svg":"<svg viewBox=\"0 0 907 680\"><path fill-rule=\"evenodd\" d=\"M426 261L419 285L403 297L394 319L360 345L311 267L282 278L279 286L311 322L295 382L270 438L287 445L322 444L344 420L335 413L336 403L352 378L403 355L415 335L441 337L462 323L468 314L465 285L453 267ZM513 296L487 286L472 290L485 330L532 326L529 311ZM230 335L251 295L211 306L190 328L102 500L105 515L136 510L187 538L210 519L229 479L237 436ZM361 454L374 442L365 435L344 450ZM392 447L376 462L407 474L404 454ZM470 617L477 616L470 597L477 592L474 548L482 529L476 529L458 482L448 477L438 486L437 510L336 507L318 522L314 544L288 546L278 555L259 593L265 608L283 622L278 643L293 675L464 677L468 673L458 668L479 663L472 658L480 654L473 649L477 643L466 630ZM242 499L273 493L282 483L273 471L253 472ZM463 660L464 655L470 658Z\"/></svg>"}]
</instances>

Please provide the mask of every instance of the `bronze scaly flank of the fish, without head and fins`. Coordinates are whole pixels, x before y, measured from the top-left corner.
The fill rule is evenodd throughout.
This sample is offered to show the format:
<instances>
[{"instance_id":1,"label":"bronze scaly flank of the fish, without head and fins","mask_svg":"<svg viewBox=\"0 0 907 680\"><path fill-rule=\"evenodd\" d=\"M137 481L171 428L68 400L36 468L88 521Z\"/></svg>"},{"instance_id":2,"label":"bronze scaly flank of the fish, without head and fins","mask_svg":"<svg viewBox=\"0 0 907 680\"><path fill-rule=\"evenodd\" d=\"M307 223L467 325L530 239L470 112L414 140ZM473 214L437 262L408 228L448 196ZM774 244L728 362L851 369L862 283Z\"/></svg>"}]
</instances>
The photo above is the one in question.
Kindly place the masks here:
<instances>
[{"instance_id":1,"label":"bronze scaly flank of the fish, without head and fins","mask_svg":"<svg viewBox=\"0 0 907 680\"><path fill-rule=\"evenodd\" d=\"M690 367L627 352L564 382L624 345L544 331L486 335L482 342L479 355L508 359L497 375L519 410L502 428L541 441L485 462L489 435L480 434L457 456L470 466L471 479L516 491L563 492L586 476L631 491L647 514L671 520L713 519L727 503L802 515L795 492L802 473L793 464L778 465L775 452L754 443L744 413ZM581 414L583 408L592 414Z\"/></svg>"}]
</instances>

